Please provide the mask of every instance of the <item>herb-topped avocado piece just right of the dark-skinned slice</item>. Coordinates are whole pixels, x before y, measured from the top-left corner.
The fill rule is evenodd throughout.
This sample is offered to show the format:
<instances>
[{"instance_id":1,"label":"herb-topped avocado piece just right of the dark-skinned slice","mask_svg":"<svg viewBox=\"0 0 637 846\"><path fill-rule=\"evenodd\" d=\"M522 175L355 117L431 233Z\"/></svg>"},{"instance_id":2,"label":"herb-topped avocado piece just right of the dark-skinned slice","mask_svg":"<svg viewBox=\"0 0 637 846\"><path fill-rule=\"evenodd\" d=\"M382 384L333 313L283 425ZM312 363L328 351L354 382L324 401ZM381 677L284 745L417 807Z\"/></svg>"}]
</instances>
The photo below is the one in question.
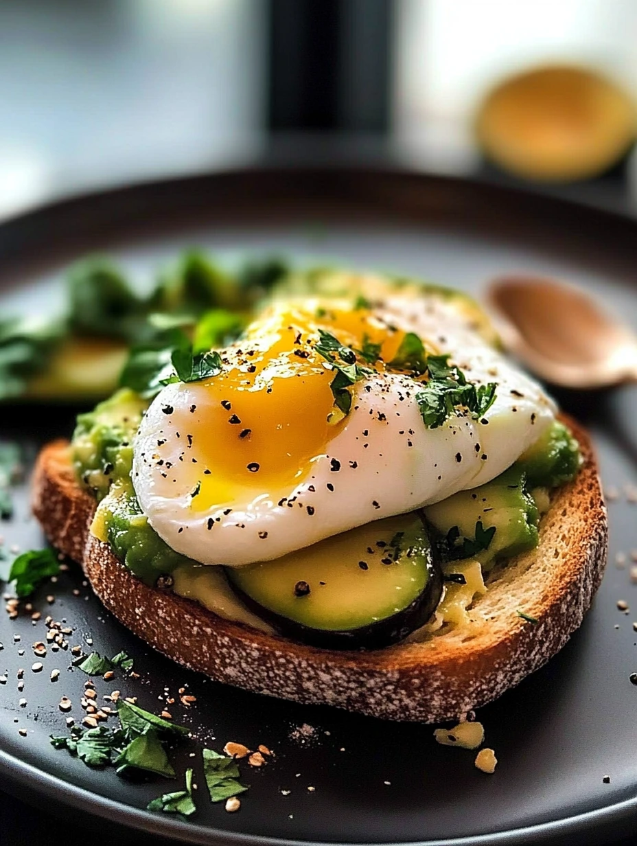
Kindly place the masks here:
<instances>
[{"instance_id":1,"label":"herb-topped avocado piece just right of the dark-skinned slice","mask_svg":"<svg viewBox=\"0 0 637 846\"><path fill-rule=\"evenodd\" d=\"M537 546L539 512L515 465L486 485L454 493L424 510L449 560L477 558L488 566Z\"/></svg>"}]
</instances>

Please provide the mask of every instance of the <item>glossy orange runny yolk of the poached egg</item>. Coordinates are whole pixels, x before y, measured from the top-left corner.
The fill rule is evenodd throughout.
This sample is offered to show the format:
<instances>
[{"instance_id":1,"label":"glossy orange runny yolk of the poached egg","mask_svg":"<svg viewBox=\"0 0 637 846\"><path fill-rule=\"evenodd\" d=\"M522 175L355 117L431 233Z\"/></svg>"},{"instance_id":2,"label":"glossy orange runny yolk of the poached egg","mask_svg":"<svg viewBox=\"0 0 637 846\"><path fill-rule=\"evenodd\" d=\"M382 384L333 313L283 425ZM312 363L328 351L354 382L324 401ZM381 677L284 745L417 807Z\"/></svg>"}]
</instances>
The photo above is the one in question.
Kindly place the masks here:
<instances>
[{"instance_id":1,"label":"glossy orange runny yolk of the poached egg","mask_svg":"<svg viewBox=\"0 0 637 846\"><path fill-rule=\"evenodd\" d=\"M252 495L289 491L328 451L343 420L334 423L335 374L315 349L320 328L353 349L380 344L382 360L391 360L404 338L351 304L266 312L224 351L222 373L199 383L206 413L193 415L189 441L203 469L192 508L232 503L246 488ZM359 360L382 370L382 361Z\"/></svg>"}]
</instances>

